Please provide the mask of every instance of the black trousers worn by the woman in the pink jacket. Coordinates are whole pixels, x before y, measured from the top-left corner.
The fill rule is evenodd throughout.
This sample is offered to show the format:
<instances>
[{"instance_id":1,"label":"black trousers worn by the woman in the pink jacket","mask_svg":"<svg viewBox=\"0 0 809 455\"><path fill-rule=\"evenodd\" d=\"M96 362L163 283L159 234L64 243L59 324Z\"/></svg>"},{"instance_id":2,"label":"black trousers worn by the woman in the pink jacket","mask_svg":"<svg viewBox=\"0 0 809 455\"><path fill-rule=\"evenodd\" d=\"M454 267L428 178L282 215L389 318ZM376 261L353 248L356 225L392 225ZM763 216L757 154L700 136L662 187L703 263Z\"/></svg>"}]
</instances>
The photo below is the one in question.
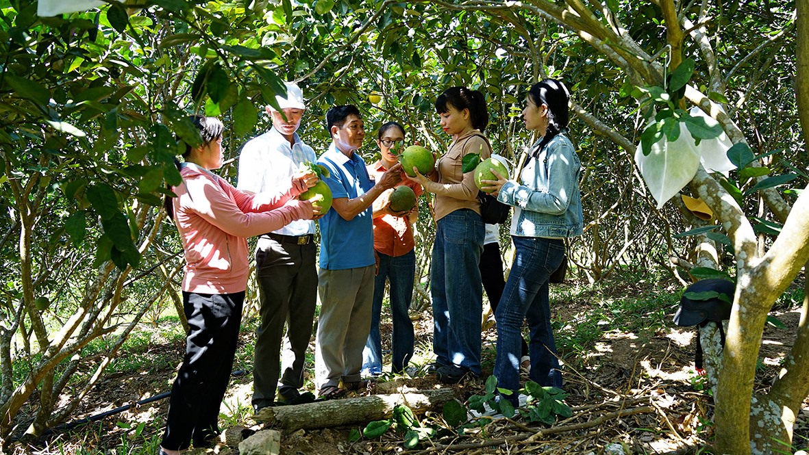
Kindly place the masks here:
<instances>
[{"instance_id":1,"label":"black trousers worn by the woman in the pink jacket","mask_svg":"<svg viewBox=\"0 0 809 455\"><path fill-rule=\"evenodd\" d=\"M205 444L219 432L219 406L231 377L244 291L232 294L183 292L190 332L185 357L168 402L164 449Z\"/></svg>"}]
</instances>

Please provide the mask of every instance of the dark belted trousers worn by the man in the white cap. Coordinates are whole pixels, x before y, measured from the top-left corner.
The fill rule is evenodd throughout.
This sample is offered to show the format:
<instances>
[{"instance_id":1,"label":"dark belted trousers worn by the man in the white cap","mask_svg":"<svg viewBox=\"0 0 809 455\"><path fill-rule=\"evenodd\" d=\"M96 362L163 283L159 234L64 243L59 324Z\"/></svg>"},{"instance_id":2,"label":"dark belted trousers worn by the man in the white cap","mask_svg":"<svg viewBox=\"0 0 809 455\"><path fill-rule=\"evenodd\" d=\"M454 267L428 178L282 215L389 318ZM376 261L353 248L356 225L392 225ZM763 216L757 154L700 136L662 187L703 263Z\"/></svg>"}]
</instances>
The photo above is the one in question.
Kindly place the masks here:
<instances>
[{"instance_id":1,"label":"dark belted trousers worn by the man in the white cap","mask_svg":"<svg viewBox=\"0 0 809 455\"><path fill-rule=\"evenodd\" d=\"M272 405L276 387L288 398L303 387L303 366L317 301L316 254L315 242L297 245L266 237L258 240L256 279L261 325L253 369L254 407Z\"/></svg>"}]
</instances>

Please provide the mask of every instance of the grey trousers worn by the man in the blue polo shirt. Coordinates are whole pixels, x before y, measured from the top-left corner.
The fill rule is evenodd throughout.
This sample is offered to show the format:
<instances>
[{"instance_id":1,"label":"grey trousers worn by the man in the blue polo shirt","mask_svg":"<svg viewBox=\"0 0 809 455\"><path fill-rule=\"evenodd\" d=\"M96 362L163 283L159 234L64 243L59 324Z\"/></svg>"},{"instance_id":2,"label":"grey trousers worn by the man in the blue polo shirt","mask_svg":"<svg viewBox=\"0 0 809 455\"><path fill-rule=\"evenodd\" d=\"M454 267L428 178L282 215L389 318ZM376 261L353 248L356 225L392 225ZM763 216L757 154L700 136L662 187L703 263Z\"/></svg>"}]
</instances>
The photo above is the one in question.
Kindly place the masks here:
<instances>
[{"instance_id":1,"label":"grey trousers worn by the man in the blue polo shirt","mask_svg":"<svg viewBox=\"0 0 809 455\"><path fill-rule=\"evenodd\" d=\"M362 349L371 332L374 268L320 269L315 385L323 390L340 381L362 379Z\"/></svg>"}]
</instances>

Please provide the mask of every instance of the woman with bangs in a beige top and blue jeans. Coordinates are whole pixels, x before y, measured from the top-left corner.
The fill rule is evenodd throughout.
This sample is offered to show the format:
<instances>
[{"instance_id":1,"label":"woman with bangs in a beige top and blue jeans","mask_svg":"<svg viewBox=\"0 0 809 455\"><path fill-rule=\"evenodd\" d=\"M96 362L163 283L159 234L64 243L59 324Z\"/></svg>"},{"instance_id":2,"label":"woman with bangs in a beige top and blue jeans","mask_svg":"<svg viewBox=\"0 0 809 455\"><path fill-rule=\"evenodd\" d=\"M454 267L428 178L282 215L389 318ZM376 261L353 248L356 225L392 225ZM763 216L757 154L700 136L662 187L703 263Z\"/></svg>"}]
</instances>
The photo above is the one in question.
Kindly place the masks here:
<instances>
[{"instance_id":1,"label":"woman with bangs in a beige top and blue jeans","mask_svg":"<svg viewBox=\"0 0 809 455\"><path fill-rule=\"evenodd\" d=\"M430 270L430 295L435 320L433 351L438 381L455 383L481 370L481 311L483 289L478 263L484 226L477 200L474 172L461 171L467 154L492 153L483 136L489 123L485 97L467 87L451 87L438 96L435 111L444 133L452 137L449 150L428 179L413 180L435 193L435 242Z\"/></svg>"}]
</instances>

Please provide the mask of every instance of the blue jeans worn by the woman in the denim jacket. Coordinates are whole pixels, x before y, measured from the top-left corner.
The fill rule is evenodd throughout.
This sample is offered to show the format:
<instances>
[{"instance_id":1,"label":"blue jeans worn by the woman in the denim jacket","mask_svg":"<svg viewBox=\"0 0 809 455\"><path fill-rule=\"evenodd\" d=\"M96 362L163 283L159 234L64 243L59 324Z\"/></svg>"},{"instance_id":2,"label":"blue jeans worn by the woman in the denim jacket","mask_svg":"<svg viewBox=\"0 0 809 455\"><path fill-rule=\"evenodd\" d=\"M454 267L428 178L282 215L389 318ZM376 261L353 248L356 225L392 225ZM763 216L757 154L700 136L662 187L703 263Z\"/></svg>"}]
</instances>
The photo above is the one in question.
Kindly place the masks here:
<instances>
[{"instance_id":1,"label":"blue jeans worn by the woman in the denim jacket","mask_svg":"<svg viewBox=\"0 0 809 455\"><path fill-rule=\"evenodd\" d=\"M561 239L516 237L514 263L506 280L506 289L494 315L498 322L498 355L494 376L498 387L519 390L520 328L523 319L531 328L529 349L532 381L540 385L561 387L561 372L553 342L548 280L565 257ZM508 397L517 404L517 394Z\"/></svg>"}]
</instances>

